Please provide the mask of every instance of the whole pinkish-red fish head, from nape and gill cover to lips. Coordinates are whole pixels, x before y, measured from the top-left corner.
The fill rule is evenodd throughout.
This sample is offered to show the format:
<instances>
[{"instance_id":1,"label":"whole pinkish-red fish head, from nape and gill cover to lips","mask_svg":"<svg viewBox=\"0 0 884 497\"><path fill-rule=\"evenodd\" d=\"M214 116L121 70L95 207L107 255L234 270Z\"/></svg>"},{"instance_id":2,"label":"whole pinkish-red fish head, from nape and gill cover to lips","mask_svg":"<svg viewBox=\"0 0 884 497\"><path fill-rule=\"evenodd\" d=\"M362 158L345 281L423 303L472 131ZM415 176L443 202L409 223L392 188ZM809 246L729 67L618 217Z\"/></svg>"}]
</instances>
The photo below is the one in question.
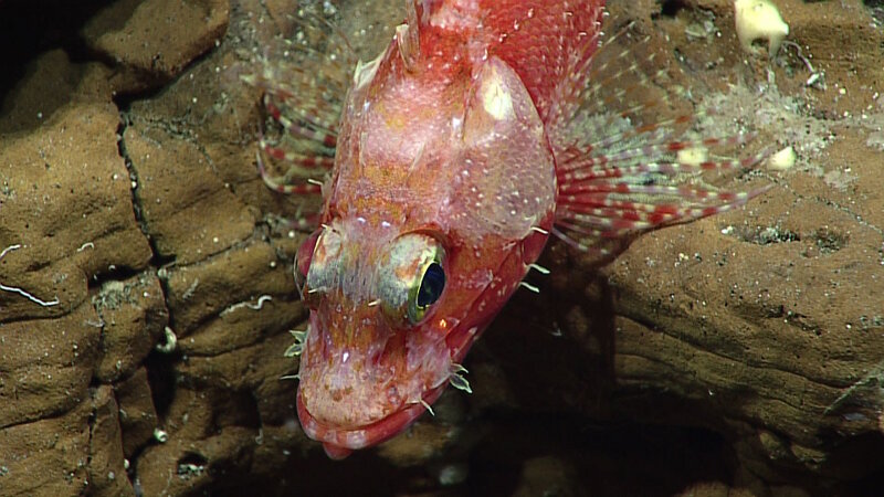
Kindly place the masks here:
<instances>
[{"instance_id":1,"label":"whole pinkish-red fish head, from nape and gill cover to lips","mask_svg":"<svg viewBox=\"0 0 884 497\"><path fill-rule=\"evenodd\" d=\"M543 250L556 172L518 75L466 40L401 36L357 68L322 228L297 267L311 308L298 416L329 455L404 430ZM433 44L435 43L435 44Z\"/></svg>"}]
</instances>

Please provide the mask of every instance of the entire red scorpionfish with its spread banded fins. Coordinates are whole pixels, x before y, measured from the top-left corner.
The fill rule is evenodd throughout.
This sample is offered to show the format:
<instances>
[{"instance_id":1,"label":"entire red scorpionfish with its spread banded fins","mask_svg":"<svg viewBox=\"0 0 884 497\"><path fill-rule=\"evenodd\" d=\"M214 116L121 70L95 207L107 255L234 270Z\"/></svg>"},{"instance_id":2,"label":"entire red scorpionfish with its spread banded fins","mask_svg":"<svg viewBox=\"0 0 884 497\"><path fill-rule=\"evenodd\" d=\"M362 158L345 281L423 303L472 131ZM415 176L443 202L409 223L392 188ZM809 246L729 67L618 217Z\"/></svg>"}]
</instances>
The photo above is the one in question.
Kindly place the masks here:
<instances>
[{"instance_id":1,"label":"entire red scorpionfish with its spread banded fins","mask_svg":"<svg viewBox=\"0 0 884 497\"><path fill-rule=\"evenodd\" d=\"M409 0L371 62L330 42L344 39L330 23L305 22L297 63L244 77L276 128L262 131L261 176L322 198L301 219L315 226L294 264L309 320L286 353L301 359L304 432L329 456L402 432L449 384L469 391L464 356L544 271L551 236L610 260L636 234L762 191L682 179L762 157L711 160L748 136L681 139L696 115L649 124L666 98L643 94L641 64L617 68L639 50L606 50L603 17L597 0Z\"/></svg>"}]
</instances>

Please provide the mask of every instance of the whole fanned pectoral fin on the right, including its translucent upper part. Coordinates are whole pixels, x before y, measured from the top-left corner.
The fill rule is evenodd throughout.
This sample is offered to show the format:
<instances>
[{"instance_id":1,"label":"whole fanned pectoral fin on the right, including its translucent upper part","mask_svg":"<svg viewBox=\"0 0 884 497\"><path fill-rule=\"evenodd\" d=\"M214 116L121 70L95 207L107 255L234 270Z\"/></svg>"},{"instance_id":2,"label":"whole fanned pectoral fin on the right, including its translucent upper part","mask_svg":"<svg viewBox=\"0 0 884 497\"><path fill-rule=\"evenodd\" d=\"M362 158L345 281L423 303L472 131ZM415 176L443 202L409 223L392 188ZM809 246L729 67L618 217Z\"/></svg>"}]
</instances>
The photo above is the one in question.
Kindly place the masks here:
<instances>
[{"instance_id":1,"label":"whole fanned pectoral fin on the right, including its translucent upper part","mask_svg":"<svg viewBox=\"0 0 884 497\"><path fill-rule=\"evenodd\" d=\"M547 128L559 186L552 234L599 263L641 233L738 208L768 189L712 184L707 172L753 168L770 149L739 158L754 134L696 133L708 114L694 110L662 65L665 54L635 29L627 23L590 53L586 74L559 88Z\"/></svg>"}]
</instances>

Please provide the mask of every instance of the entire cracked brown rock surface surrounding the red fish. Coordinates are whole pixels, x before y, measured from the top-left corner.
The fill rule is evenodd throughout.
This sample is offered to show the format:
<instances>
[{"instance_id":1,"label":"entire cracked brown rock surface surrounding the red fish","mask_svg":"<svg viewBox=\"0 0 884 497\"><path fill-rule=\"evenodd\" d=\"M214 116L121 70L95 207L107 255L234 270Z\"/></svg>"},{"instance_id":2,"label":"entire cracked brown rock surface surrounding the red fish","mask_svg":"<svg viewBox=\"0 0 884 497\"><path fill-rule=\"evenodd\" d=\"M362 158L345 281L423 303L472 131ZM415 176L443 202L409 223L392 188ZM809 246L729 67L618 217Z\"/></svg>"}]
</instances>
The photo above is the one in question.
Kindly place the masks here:
<instances>
[{"instance_id":1,"label":"entire cracked brown rock surface surrounding the red fish","mask_svg":"<svg viewBox=\"0 0 884 497\"><path fill-rule=\"evenodd\" d=\"M340 3L359 53L400 3ZM612 0L684 72L705 136L757 131L740 155L791 145L798 165L726 180L775 188L601 273L554 244L540 298L517 295L472 352L474 393L343 463L281 380L306 316L303 235L280 219L298 203L254 171L260 95L236 78L285 46L296 4L115 2L78 30L97 60L46 52L4 97L0 250L21 246L0 283L33 298L0 292L0 493L880 488L884 62L862 2L778 2L806 61L768 63L739 51L729 1Z\"/></svg>"}]
</instances>

